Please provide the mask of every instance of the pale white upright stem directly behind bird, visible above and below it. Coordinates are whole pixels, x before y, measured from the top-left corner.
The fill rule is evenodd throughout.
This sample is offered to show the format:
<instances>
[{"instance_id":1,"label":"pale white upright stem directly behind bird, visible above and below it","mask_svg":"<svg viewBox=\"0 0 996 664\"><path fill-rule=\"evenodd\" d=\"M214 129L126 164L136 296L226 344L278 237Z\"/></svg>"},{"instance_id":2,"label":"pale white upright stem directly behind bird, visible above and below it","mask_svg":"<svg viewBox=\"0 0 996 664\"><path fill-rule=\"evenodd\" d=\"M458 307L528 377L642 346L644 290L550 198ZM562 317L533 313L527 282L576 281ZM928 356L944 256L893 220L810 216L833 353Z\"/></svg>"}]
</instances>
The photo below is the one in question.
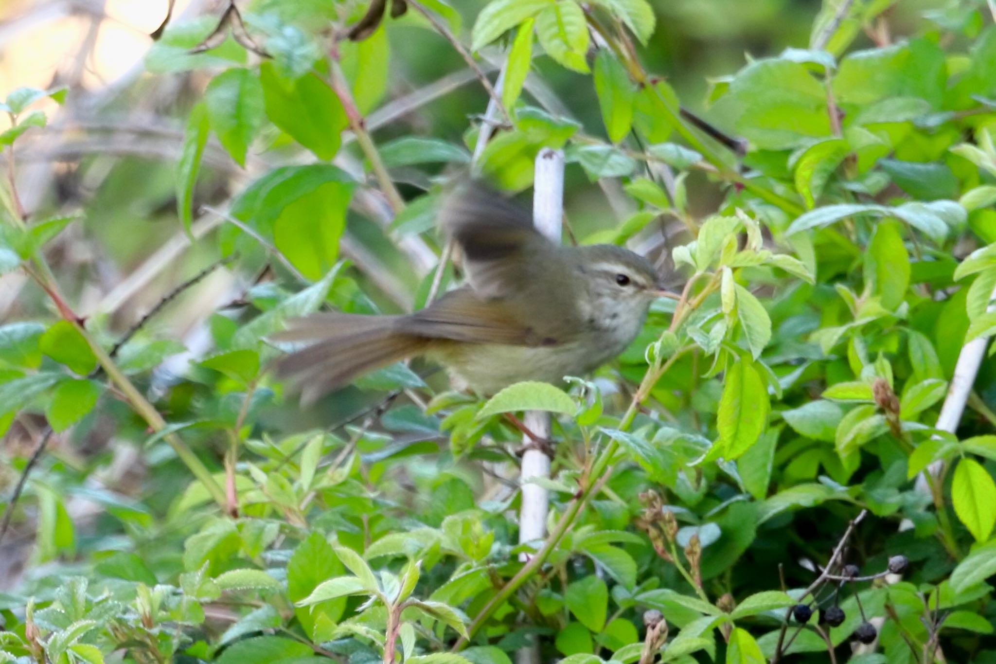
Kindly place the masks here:
<instances>
[{"instance_id":1,"label":"pale white upright stem directly behind bird, visible above and below it","mask_svg":"<svg viewBox=\"0 0 996 664\"><path fill-rule=\"evenodd\" d=\"M561 241L561 228L564 219L564 152L543 148L536 155L536 170L533 183L533 223L548 238ZM530 411L526 413L524 424L533 435L548 439L551 434L550 413ZM532 441L523 437L523 443ZM546 487L536 483L537 479L550 477L550 457L535 446L522 456L522 474L519 485L522 490L522 507L519 512L519 544L543 540L546 536L547 516L550 514L550 493ZM519 558L526 560L528 553ZM538 664L540 651L537 645L520 648L515 654L516 664Z\"/></svg>"}]
</instances>

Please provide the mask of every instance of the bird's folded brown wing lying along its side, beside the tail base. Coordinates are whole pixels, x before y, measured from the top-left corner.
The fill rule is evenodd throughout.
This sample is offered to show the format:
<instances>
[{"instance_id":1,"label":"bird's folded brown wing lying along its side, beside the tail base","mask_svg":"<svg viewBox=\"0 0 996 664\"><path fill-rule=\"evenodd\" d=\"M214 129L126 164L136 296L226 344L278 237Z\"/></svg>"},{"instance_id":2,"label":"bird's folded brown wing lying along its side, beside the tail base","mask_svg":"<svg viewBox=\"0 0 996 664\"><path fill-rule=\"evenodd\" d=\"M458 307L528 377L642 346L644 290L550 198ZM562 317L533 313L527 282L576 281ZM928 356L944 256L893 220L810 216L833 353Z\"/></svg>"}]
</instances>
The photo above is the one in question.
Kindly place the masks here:
<instances>
[{"instance_id":1,"label":"bird's folded brown wing lying along its side, beside the tail base","mask_svg":"<svg viewBox=\"0 0 996 664\"><path fill-rule=\"evenodd\" d=\"M560 341L545 330L549 328L546 321L537 329L524 324L525 320L525 313L516 311L507 301L484 300L476 291L463 287L401 318L396 329L427 338L474 343L553 345Z\"/></svg>"}]
</instances>

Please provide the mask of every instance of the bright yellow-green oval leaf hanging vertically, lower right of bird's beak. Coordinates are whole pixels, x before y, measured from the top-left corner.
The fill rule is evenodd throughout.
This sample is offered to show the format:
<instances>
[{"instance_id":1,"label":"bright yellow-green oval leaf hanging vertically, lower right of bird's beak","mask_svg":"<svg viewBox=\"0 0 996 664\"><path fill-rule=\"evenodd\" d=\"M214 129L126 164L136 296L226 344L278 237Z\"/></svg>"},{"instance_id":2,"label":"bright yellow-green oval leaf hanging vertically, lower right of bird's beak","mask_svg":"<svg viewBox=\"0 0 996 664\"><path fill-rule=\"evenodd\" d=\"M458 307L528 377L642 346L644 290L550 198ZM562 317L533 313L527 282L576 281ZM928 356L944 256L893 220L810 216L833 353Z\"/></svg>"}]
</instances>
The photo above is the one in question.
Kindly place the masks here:
<instances>
[{"instance_id":1,"label":"bright yellow-green oval leaf hanging vertically, lower right of bird's beak","mask_svg":"<svg viewBox=\"0 0 996 664\"><path fill-rule=\"evenodd\" d=\"M726 372L719 398L716 456L731 461L757 442L768 420L768 403L768 389L754 364L744 359L735 362Z\"/></svg>"}]
</instances>

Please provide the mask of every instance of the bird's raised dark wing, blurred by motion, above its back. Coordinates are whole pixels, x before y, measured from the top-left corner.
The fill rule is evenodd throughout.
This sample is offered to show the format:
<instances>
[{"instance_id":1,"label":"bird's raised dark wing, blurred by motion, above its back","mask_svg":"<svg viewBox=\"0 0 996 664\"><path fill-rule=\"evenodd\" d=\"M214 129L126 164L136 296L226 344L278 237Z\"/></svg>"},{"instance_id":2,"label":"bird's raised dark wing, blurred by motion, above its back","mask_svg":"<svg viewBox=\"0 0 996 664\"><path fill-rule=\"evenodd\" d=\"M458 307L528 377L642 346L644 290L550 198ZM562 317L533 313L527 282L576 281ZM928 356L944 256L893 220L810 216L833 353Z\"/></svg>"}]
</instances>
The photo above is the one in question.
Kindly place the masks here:
<instances>
[{"instance_id":1,"label":"bird's raised dark wing, blurred by motion, above its back","mask_svg":"<svg viewBox=\"0 0 996 664\"><path fill-rule=\"evenodd\" d=\"M531 259L549 250L528 210L477 181L448 198L439 223L459 246L467 281L484 300L527 290L535 273Z\"/></svg>"}]
</instances>

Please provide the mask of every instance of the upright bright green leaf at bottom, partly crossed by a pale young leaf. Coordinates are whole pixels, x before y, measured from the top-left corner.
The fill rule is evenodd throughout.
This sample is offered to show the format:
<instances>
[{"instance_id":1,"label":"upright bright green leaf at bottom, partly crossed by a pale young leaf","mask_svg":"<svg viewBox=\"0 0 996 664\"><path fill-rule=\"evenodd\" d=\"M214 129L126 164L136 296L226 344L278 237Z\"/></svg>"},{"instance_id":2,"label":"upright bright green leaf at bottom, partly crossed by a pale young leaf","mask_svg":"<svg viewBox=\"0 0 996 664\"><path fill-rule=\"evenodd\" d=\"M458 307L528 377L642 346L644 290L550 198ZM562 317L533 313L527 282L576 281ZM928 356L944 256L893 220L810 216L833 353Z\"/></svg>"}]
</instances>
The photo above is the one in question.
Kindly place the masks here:
<instances>
[{"instance_id":1,"label":"upright bright green leaf at bottom, partly crossed by a pale young leaf","mask_svg":"<svg viewBox=\"0 0 996 664\"><path fill-rule=\"evenodd\" d=\"M322 581L342 575L345 568L332 546L318 533L312 533L294 550L287 562L287 594L292 602L310 595ZM305 631L315 636L319 616L336 623L346 610L346 598L318 602L307 608L297 607L295 615Z\"/></svg>"}]
</instances>

